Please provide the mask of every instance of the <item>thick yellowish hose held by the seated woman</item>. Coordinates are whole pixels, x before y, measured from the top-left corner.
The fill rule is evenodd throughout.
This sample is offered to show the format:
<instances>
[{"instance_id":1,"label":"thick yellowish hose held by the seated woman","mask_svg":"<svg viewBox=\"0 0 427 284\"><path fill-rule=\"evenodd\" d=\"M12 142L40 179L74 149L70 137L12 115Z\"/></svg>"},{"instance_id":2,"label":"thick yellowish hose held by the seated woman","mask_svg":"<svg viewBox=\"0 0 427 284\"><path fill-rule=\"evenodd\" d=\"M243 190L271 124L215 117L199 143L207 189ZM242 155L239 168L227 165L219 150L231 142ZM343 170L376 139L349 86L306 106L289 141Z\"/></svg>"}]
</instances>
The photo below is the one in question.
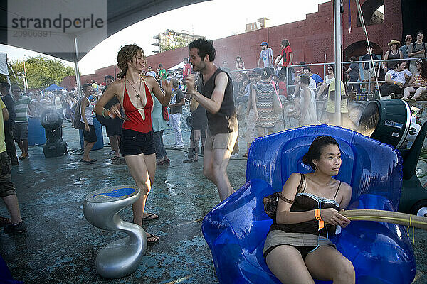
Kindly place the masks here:
<instances>
[{"instance_id":1,"label":"thick yellowish hose held by the seated woman","mask_svg":"<svg viewBox=\"0 0 427 284\"><path fill-rule=\"evenodd\" d=\"M339 214L342 214L352 221L363 220L386 222L427 230L427 217L411 214L372 209L345 210L340 211Z\"/></svg>"}]
</instances>

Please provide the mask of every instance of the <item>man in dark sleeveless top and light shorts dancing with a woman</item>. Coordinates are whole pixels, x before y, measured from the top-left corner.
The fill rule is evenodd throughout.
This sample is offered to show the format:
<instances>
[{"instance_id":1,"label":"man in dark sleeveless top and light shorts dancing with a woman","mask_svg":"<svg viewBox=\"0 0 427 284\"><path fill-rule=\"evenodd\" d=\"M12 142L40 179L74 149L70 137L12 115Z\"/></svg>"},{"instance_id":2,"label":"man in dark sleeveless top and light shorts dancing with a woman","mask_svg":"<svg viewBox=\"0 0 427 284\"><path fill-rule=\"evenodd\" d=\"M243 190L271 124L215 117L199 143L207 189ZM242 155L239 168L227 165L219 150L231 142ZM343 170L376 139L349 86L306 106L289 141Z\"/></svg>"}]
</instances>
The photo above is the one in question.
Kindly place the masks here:
<instances>
[{"instance_id":1,"label":"man in dark sleeveless top and light shorts dancing with a woman","mask_svg":"<svg viewBox=\"0 0 427 284\"><path fill-rule=\"evenodd\" d=\"M204 145L203 173L218 188L225 200L234 190L227 175L228 160L238 136L231 77L214 64L216 51L211 40L199 38L189 44L193 70L200 72L200 89L194 87L194 75L186 77L187 93L206 109L208 135Z\"/></svg>"}]
</instances>

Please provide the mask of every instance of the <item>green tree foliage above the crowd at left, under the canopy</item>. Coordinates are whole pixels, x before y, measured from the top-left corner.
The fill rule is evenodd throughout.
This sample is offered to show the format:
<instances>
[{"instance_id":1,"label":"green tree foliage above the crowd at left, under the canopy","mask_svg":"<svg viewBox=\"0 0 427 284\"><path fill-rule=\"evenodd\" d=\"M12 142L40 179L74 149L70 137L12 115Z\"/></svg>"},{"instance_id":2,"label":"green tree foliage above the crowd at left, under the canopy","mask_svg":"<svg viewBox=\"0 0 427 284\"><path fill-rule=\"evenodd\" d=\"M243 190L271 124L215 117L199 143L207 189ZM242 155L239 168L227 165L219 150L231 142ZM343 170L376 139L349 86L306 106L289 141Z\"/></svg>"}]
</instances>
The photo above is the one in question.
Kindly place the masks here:
<instances>
[{"instance_id":1,"label":"green tree foliage above the crowd at left, under the canopy","mask_svg":"<svg viewBox=\"0 0 427 284\"><path fill-rule=\"evenodd\" d=\"M23 88L23 61L11 60L10 65L18 77L19 87ZM75 75L74 67L65 66L58 59L47 59L41 56L26 58L25 61L28 89L46 88L51 84L60 84L63 77ZM14 73L9 68L12 84L16 84Z\"/></svg>"}]
</instances>

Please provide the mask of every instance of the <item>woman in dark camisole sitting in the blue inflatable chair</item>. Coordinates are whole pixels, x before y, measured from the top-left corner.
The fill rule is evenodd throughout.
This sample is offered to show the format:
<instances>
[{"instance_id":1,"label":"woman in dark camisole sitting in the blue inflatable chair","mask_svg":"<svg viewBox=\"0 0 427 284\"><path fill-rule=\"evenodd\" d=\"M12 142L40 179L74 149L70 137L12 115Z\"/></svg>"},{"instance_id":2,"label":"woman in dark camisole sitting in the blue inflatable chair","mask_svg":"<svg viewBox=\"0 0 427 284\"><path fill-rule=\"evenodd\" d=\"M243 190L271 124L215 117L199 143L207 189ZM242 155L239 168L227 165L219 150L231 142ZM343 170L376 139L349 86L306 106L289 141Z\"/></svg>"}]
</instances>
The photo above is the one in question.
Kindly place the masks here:
<instances>
[{"instance_id":1,"label":"woman in dark camisole sitting in the blue inflatable chair","mask_svg":"<svg viewBox=\"0 0 427 284\"><path fill-rule=\"evenodd\" d=\"M354 283L354 267L328 236L350 221L339 214L347 208L352 188L335 180L341 151L331 136L318 136L302 158L313 173L292 173L283 185L276 218L265 240L263 256L282 283ZM325 227L321 221L325 222Z\"/></svg>"}]
</instances>

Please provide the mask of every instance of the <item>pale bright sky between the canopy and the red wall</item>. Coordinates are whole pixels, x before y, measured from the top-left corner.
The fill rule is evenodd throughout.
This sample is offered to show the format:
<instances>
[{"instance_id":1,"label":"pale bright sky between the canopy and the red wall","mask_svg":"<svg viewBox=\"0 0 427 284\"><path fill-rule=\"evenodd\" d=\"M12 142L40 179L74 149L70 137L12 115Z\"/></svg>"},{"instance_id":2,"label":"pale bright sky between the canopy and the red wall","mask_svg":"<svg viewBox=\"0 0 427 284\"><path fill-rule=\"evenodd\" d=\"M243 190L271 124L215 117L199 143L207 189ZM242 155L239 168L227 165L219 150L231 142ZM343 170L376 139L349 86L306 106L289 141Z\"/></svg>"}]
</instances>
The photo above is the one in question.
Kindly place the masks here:
<instances>
[{"instance_id":1,"label":"pale bright sky between the canopy and the red wall","mask_svg":"<svg viewBox=\"0 0 427 284\"><path fill-rule=\"evenodd\" d=\"M135 23L122 31L115 33L90 50L79 61L81 75L93 73L95 69L107 67L117 63L117 52L121 45L136 43L140 45L146 55L152 55L156 47L154 35L172 29L174 31L187 30L195 35L204 35L216 40L230 35L244 33L246 23L253 23L258 18L269 18L270 26L283 23L292 23L305 19L307 13L317 12L317 5L328 0L214 0L193 4L161 13ZM8 53L12 60L24 60L25 56L48 55L31 50L0 45L0 52ZM64 61L68 66L73 62Z\"/></svg>"}]
</instances>

